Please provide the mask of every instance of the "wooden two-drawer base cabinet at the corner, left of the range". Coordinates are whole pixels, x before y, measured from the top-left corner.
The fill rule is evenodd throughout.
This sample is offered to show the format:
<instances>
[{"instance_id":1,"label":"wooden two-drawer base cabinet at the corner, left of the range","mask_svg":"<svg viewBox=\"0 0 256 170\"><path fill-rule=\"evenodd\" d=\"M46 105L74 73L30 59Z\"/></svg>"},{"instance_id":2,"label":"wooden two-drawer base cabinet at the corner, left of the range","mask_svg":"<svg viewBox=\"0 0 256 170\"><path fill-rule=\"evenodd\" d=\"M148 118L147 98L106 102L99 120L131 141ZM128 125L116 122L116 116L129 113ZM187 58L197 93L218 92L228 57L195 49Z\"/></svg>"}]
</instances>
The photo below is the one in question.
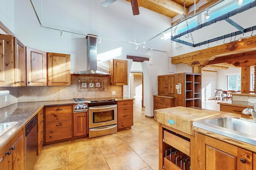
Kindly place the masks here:
<instances>
[{"instance_id":1,"label":"wooden two-drawer base cabinet at the corner, left of the range","mask_svg":"<svg viewBox=\"0 0 256 170\"><path fill-rule=\"evenodd\" d=\"M45 142L72 137L72 105L45 108Z\"/></svg>"}]
</instances>

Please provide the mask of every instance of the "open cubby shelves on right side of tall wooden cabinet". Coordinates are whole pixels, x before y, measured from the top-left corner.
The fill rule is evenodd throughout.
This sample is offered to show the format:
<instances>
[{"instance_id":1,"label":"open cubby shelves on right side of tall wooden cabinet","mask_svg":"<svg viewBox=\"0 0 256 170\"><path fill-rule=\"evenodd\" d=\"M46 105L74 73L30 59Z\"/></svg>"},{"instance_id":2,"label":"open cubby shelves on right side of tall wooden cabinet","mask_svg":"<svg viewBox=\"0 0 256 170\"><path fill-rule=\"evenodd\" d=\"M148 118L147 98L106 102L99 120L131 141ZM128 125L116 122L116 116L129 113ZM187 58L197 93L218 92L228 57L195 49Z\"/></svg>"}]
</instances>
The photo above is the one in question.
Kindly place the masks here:
<instances>
[{"instance_id":1,"label":"open cubby shelves on right side of tall wooden cabinet","mask_svg":"<svg viewBox=\"0 0 256 170\"><path fill-rule=\"evenodd\" d=\"M202 74L185 73L186 107L202 107Z\"/></svg>"}]
</instances>

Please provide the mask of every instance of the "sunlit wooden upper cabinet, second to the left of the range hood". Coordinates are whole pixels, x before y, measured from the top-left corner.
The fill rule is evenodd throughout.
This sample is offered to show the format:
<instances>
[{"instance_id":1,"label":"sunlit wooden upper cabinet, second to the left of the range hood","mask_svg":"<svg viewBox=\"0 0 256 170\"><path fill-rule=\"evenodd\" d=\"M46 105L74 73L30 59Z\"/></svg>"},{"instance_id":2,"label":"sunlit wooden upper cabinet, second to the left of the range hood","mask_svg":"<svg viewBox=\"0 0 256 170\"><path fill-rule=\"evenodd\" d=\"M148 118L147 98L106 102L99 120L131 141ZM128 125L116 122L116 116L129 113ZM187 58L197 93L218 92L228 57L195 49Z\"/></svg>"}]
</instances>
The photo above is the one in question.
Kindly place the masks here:
<instances>
[{"instance_id":1,"label":"sunlit wooden upper cabinet, second to the left of the range hood","mask_svg":"<svg viewBox=\"0 0 256 170\"><path fill-rule=\"evenodd\" d=\"M27 86L46 86L46 52L26 47Z\"/></svg>"}]
</instances>

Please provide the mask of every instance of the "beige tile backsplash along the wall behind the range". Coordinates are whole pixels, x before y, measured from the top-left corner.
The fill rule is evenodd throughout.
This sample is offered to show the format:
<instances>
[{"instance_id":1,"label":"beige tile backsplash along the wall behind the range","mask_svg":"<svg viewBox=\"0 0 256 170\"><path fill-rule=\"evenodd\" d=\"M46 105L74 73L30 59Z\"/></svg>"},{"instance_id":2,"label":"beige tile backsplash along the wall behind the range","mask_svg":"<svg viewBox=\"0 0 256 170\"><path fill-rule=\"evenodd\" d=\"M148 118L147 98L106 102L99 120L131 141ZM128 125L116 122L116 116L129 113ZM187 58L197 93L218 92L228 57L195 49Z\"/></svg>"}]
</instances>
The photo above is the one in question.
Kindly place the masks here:
<instances>
[{"instance_id":1,"label":"beige tile backsplash along the wall behind the range","mask_svg":"<svg viewBox=\"0 0 256 170\"><path fill-rule=\"evenodd\" d=\"M0 87L0 90L9 90L7 95L8 102L5 102L5 96L0 96L0 108L9 106L17 102L36 102L51 100L70 100L73 98L115 98L122 97L122 86L110 86L110 77L100 77L104 79L104 91L97 92L79 92L77 90L76 79L96 78L89 76L71 76L71 86L24 86L24 87ZM116 94L112 95L112 91Z\"/></svg>"}]
</instances>

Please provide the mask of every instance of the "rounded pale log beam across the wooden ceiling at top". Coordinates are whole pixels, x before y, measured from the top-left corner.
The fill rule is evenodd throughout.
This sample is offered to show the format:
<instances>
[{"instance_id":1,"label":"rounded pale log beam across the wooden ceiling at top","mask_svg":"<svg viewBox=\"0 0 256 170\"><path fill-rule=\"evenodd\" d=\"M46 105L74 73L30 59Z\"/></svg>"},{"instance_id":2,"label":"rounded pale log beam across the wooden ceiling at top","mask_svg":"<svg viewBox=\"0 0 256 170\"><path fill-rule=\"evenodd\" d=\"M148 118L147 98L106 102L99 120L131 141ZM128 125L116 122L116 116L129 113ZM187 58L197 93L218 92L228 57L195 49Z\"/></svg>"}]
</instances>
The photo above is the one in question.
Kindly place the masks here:
<instances>
[{"instance_id":1,"label":"rounded pale log beam across the wooden ceiling at top","mask_svg":"<svg viewBox=\"0 0 256 170\"><path fill-rule=\"evenodd\" d=\"M158 4L164 8L177 12L178 14L183 14L184 6L172 1L172 0L148 0L154 4ZM188 14L188 8L186 8L185 14Z\"/></svg>"}]
</instances>

